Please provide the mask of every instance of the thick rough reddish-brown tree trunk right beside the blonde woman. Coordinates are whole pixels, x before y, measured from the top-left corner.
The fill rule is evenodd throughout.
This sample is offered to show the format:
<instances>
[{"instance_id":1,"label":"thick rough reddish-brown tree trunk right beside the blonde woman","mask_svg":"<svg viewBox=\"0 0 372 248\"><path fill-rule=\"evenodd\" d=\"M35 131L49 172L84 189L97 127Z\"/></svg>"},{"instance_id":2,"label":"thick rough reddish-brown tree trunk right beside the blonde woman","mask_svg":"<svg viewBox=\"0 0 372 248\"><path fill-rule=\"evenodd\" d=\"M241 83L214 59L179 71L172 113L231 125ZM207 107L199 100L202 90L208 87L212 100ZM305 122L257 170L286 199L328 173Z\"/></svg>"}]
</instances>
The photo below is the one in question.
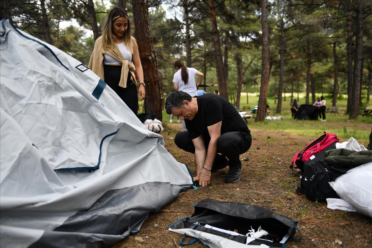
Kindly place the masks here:
<instances>
[{"instance_id":1,"label":"thick rough reddish-brown tree trunk right beside the blonde woman","mask_svg":"<svg viewBox=\"0 0 372 248\"><path fill-rule=\"evenodd\" d=\"M135 34L144 69L144 83L146 84L145 111L147 113L155 111L156 118L161 121L164 99L158 100L163 97L163 88L159 79L158 59L154 50L154 41L148 22L147 1L136 0L132 4L136 29Z\"/></svg>"}]
</instances>

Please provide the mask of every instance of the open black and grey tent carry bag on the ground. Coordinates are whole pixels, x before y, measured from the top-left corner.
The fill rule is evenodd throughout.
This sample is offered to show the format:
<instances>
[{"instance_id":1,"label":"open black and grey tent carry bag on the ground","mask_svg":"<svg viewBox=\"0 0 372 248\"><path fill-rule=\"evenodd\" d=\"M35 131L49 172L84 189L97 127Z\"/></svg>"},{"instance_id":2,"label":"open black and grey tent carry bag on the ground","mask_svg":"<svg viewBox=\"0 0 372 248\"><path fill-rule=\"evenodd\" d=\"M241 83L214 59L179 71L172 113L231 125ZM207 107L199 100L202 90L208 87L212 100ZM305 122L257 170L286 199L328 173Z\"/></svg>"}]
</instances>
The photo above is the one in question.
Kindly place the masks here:
<instances>
[{"instance_id":1,"label":"open black and grey tent carry bag on the ground","mask_svg":"<svg viewBox=\"0 0 372 248\"><path fill-rule=\"evenodd\" d=\"M191 217L177 220L168 230L192 236L207 247L285 247L289 240L299 241L302 236L297 221L274 213L263 207L244 203L232 203L204 199L196 203ZM211 229L211 226L213 229ZM250 230L264 230L268 234L259 238L247 237ZM292 239L298 230L300 239Z\"/></svg>"}]
</instances>

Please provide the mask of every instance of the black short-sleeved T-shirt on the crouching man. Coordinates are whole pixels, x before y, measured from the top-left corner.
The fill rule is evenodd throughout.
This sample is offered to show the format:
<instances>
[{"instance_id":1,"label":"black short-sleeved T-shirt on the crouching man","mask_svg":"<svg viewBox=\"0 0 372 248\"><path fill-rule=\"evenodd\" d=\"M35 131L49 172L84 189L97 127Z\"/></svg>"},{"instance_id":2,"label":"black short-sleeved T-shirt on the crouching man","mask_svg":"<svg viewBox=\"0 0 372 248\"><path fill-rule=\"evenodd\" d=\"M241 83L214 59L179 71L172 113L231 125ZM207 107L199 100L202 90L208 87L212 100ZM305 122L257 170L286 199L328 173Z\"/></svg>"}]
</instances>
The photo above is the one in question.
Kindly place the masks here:
<instances>
[{"instance_id":1,"label":"black short-sleeved T-shirt on the crouching man","mask_svg":"<svg viewBox=\"0 0 372 248\"><path fill-rule=\"evenodd\" d=\"M191 139L196 139L201 134L205 139L210 139L208 126L219 121L222 121L221 134L227 132L250 133L243 118L227 99L212 93L195 97L198 99L198 113L193 120L185 120Z\"/></svg>"}]
</instances>

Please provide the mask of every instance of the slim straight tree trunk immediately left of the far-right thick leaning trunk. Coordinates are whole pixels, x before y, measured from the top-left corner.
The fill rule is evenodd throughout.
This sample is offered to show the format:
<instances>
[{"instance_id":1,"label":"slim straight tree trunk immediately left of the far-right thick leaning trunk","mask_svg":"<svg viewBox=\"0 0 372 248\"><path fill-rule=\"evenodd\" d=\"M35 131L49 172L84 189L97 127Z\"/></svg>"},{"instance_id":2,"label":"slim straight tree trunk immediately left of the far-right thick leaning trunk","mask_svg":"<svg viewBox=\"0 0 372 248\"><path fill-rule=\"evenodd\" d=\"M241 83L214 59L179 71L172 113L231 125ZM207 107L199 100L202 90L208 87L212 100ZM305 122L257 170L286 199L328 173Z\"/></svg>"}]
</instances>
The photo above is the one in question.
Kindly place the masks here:
<instances>
[{"instance_id":1,"label":"slim straight tree trunk immediately left of the far-right thick leaning trunk","mask_svg":"<svg viewBox=\"0 0 372 248\"><path fill-rule=\"evenodd\" d=\"M353 45L352 45L352 31L351 31L351 12L349 10L350 3L348 3L347 10L347 107L346 113L349 113L352 104L353 96Z\"/></svg>"}]
</instances>

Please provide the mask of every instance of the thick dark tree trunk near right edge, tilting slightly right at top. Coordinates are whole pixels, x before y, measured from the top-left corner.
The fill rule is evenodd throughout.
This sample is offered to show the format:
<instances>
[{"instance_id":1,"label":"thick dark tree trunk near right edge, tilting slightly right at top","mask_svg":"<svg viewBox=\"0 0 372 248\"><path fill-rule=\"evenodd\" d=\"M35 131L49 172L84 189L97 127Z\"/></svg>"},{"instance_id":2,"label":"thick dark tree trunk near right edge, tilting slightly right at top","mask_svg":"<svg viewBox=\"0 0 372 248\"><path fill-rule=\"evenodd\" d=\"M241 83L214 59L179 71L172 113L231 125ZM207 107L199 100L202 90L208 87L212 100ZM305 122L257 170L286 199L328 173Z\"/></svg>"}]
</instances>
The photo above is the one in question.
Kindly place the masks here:
<instances>
[{"instance_id":1,"label":"thick dark tree trunk near right edge, tilting slightly right at top","mask_svg":"<svg viewBox=\"0 0 372 248\"><path fill-rule=\"evenodd\" d=\"M356 119L359 115L359 89L360 89L360 67L362 64L362 39L363 39L363 7L362 2L357 1L356 11L356 39L355 60L353 71L353 98L349 111L349 120Z\"/></svg>"}]
</instances>

